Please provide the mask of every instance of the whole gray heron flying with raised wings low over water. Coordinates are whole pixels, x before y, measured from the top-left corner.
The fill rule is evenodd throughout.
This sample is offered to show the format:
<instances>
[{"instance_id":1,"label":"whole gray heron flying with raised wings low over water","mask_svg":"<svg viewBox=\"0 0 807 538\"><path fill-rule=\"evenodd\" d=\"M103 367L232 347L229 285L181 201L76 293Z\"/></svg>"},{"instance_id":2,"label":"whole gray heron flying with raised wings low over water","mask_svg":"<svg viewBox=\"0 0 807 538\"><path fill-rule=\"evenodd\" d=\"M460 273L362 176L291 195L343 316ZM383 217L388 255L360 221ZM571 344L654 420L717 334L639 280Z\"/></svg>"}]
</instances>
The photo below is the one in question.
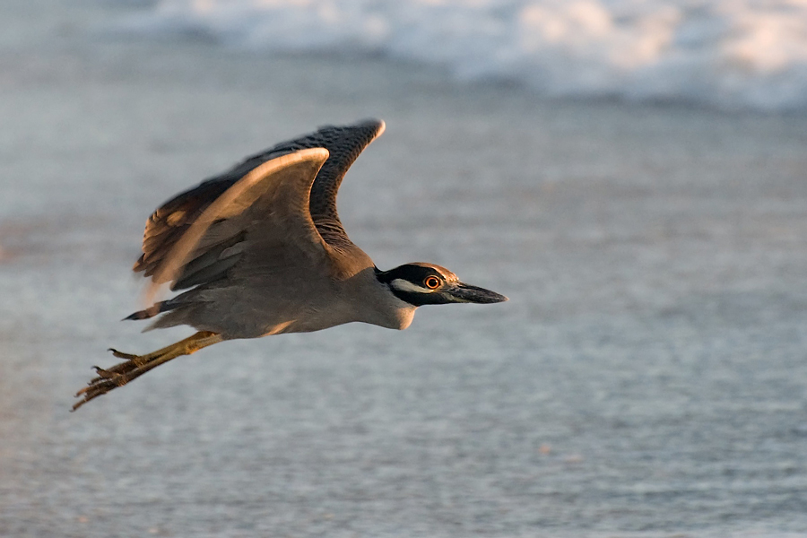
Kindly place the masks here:
<instances>
[{"instance_id":1,"label":"whole gray heron flying with raised wings low over water","mask_svg":"<svg viewBox=\"0 0 807 538\"><path fill-rule=\"evenodd\" d=\"M305 333L361 321L405 329L415 308L495 303L506 297L459 282L445 267L380 271L348 239L336 191L384 122L325 126L243 161L162 204L146 222L135 272L186 290L126 319L162 314L148 328L191 325L193 336L96 367L74 409L135 377L213 343ZM150 301L151 302L151 301Z\"/></svg>"}]
</instances>

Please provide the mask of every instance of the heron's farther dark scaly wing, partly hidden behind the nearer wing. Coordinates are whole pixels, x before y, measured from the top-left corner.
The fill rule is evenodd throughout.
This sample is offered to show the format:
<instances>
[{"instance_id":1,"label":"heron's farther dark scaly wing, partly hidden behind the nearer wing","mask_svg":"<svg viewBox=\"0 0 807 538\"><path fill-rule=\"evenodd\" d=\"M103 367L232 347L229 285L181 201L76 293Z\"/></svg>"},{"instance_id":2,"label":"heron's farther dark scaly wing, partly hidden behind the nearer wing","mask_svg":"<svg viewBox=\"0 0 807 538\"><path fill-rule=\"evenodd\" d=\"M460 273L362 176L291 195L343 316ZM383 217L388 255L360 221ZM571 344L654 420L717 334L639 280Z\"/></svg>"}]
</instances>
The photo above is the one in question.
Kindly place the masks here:
<instances>
[{"instance_id":1,"label":"heron's farther dark scaly wing, partly hidden behind the nearer wing","mask_svg":"<svg viewBox=\"0 0 807 538\"><path fill-rule=\"evenodd\" d=\"M146 221L143 255L134 264L134 272L143 271L144 276L153 276L169 250L199 215L250 170L266 161L308 148L325 148L330 153L311 187L308 209L314 225L325 242L332 247L351 245L336 212L336 192L345 172L360 152L383 132L384 122L378 119L365 120L351 126L320 127L314 133L279 143L265 152L257 153L220 176L210 178L201 185L175 196L162 204ZM222 251L231 246L226 241L218 244L218 248ZM174 288L182 289L194 283L177 282Z\"/></svg>"}]
</instances>

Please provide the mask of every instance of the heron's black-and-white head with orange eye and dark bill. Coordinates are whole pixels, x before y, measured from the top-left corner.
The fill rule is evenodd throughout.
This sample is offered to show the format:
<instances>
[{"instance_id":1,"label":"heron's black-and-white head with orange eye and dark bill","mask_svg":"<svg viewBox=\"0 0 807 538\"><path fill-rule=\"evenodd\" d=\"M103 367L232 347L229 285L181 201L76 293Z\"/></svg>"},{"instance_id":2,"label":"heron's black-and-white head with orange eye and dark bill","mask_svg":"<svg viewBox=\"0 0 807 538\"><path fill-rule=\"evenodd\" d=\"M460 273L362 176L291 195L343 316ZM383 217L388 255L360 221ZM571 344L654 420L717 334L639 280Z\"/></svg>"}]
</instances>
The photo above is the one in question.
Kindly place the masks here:
<instances>
[{"instance_id":1,"label":"heron's black-and-white head with orange eye and dark bill","mask_svg":"<svg viewBox=\"0 0 807 538\"><path fill-rule=\"evenodd\" d=\"M487 304L508 300L495 291L464 284L456 278L456 274L434 264L400 265L389 271L377 271L376 276L395 297L415 307L464 302Z\"/></svg>"}]
</instances>

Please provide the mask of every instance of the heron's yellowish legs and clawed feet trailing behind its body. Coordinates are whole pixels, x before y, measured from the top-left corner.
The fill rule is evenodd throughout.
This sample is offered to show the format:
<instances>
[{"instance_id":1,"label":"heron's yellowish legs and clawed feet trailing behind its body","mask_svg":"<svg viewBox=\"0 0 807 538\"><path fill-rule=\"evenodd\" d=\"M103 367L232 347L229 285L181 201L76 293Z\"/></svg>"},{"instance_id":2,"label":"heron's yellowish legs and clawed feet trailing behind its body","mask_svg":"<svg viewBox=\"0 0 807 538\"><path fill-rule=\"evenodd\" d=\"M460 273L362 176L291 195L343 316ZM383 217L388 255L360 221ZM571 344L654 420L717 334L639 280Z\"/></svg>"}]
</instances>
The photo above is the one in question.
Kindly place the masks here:
<instances>
[{"instance_id":1,"label":"heron's yellowish legs and clawed feet trailing behind its body","mask_svg":"<svg viewBox=\"0 0 807 538\"><path fill-rule=\"evenodd\" d=\"M182 355L190 355L204 347L219 343L223 340L221 334L210 331L200 331L178 343L172 343L161 350L153 351L145 355L132 355L120 351L109 349L118 359L126 359L112 368L102 369L95 367L98 377L93 378L88 386L82 388L75 395L82 396L82 400L74 404L73 411L86 404L93 398L107 394L113 388L124 386L136 377L142 376L150 369L155 369L161 364L171 359L176 359Z\"/></svg>"}]
</instances>

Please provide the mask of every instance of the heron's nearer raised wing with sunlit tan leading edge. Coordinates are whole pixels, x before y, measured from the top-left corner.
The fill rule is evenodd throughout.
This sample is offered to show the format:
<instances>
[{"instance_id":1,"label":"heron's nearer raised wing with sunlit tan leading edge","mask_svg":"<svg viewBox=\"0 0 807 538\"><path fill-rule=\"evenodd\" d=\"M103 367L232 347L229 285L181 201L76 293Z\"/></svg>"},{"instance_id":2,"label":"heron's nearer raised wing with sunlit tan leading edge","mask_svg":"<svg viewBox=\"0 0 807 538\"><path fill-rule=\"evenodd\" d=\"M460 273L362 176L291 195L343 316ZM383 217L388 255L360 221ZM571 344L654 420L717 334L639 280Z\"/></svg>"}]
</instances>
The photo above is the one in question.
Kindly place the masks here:
<instances>
[{"instance_id":1,"label":"heron's nearer raised wing with sunlit tan leading edge","mask_svg":"<svg viewBox=\"0 0 807 538\"><path fill-rule=\"evenodd\" d=\"M323 148L282 155L249 171L204 209L196 204L195 219L152 261L149 302L165 282L171 290L215 282L256 243L282 245L284 256L299 265L327 263L330 247L308 213L311 186L327 158Z\"/></svg>"}]
</instances>

